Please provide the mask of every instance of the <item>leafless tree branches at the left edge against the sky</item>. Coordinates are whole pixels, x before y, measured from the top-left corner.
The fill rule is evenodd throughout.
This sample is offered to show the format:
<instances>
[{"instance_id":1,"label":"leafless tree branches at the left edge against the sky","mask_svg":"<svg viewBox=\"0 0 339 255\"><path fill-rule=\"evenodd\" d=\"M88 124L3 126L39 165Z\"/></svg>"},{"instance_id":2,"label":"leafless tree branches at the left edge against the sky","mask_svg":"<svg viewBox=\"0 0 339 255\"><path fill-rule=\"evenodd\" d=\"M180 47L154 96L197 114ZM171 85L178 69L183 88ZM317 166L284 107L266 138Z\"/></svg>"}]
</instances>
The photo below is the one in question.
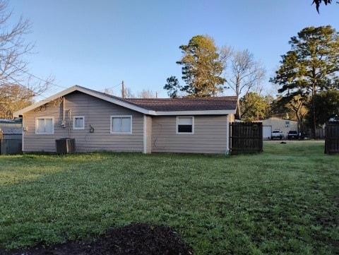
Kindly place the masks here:
<instances>
[{"instance_id":1,"label":"leafless tree branches at the left edge against the sky","mask_svg":"<svg viewBox=\"0 0 339 255\"><path fill-rule=\"evenodd\" d=\"M11 16L8 1L0 0L0 87L6 86L7 91L13 91L18 95L18 87L8 90L8 86L19 86L27 92L25 100L30 101L32 97L44 93L53 82L53 78L42 79L28 72L28 61L25 56L32 53L34 44L25 42L24 35L30 32L31 24L21 16L17 23L9 25ZM23 99L22 93L20 98Z\"/></svg>"}]
</instances>

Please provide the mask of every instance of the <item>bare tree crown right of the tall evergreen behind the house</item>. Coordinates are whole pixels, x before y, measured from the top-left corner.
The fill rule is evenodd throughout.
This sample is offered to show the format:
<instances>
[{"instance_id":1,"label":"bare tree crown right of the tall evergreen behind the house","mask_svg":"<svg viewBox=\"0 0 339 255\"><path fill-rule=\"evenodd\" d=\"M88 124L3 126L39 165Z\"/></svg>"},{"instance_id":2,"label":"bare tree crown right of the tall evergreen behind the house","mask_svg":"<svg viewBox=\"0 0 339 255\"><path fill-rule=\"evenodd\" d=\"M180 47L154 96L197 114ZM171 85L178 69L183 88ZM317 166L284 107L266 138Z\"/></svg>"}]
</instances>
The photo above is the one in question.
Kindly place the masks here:
<instances>
[{"instance_id":1,"label":"bare tree crown right of the tall evergreen behind the house","mask_svg":"<svg viewBox=\"0 0 339 255\"><path fill-rule=\"evenodd\" d=\"M231 53L229 53L231 54ZM266 70L248 49L232 52L230 64L227 66L226 83L239 98L250 90L260 90L258 86L265 78Z\"/></svg>"}]
</instances>

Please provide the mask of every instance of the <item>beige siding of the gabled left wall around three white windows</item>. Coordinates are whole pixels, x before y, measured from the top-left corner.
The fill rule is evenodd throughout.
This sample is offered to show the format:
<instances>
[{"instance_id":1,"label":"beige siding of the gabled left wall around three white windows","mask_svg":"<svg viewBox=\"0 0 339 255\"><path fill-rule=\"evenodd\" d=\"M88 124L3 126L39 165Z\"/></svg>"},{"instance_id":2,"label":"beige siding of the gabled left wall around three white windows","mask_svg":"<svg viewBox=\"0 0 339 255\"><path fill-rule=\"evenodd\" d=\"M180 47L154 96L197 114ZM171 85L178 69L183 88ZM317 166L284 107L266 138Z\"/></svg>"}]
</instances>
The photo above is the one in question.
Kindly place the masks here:
<instances>
[{"instance_id":1,"label":"beige siding of the gabled left wall around three white windows","mask_svg":"<svg viewBox=\"0 0 339 255\"><path fill-rule=\"evenodd\" d=\"M25 152L56 152L55 139L58 138L75 138L76 152L143 152L143 114L80 92L64 98L64 102L49 102L47 107L25 114L25 126L28 126L23 148ZM110 134L112 115L132 116L132 134ZM74 116L85 117L85 129L73 129ZM35 134L35 117L54 117L54 134ZM65 128L61 127L63 120ZM93 133L90 132L90 127L93 127Z\"/></svg>"}]
</instances>

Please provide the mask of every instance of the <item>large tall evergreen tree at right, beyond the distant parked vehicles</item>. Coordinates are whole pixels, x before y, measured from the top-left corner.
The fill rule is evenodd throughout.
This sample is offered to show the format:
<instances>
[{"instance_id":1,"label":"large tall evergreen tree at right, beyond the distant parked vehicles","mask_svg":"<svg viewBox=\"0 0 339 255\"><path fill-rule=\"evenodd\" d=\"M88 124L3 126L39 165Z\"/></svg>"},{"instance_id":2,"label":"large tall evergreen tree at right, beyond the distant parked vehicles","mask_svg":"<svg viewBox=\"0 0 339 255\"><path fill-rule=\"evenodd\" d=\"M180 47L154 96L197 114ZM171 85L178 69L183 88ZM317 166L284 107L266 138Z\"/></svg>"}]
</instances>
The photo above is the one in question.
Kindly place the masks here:
<instances>
[{"instance_id":1,"label":"large tall evergreen tree at right, beyond the distant parked vehicles","mask_svg":"<svg viewBox=\"0 0 339 255\"><path fill-rule=\"evenodd\" d=\"M283 55L281 66L270 81L281 85L283 97L292 100L299 97L307 102L311 95L316 134L316 93L333 87L339 71L339 34L334 28L309 27L291 37L291 50Z\"/></svg>"}]
</instances>

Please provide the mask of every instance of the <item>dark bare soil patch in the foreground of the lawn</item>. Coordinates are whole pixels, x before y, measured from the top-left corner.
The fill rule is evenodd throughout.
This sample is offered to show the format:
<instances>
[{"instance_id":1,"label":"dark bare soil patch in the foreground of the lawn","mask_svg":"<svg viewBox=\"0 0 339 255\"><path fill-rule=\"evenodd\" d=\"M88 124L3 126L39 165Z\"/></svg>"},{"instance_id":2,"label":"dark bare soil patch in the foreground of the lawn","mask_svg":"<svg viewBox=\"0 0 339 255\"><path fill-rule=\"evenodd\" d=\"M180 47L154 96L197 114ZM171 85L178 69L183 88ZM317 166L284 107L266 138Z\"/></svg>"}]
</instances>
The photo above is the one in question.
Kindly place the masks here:
<instances>
[{"instance_id":1,"label":"dark bare soil patch in the foreground of the lawn","mask_svg":"<svg viewBox=\"0 0 339 255\"><path fill-rule=\"evenodd\" d=\"M32 247L4 251L4 255L191 255L193 251L184 244L177 233L163 226L136 224L109 229L94 242L66 242L52 247Z\"/></svg>"}]
</instances>

